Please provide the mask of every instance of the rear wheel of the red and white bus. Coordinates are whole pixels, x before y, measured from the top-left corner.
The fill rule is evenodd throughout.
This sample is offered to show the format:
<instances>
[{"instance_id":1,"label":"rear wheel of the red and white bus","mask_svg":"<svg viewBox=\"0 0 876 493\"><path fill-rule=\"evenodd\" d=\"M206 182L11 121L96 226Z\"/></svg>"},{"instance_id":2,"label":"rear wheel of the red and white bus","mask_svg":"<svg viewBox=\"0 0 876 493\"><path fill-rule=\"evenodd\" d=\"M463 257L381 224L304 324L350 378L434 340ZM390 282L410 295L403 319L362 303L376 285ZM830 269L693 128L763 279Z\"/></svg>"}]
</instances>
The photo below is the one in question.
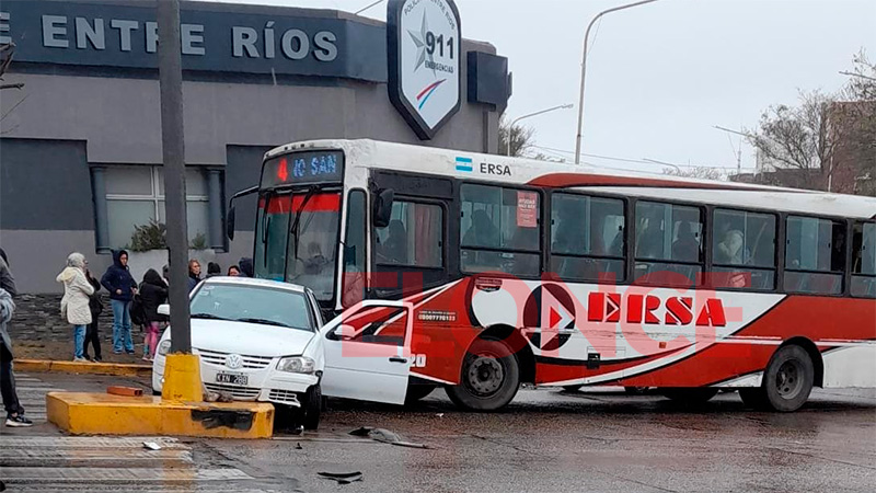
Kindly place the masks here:
<instances>
[{"instance_id":1,"label":"rear wheel of the red and white bus","mask_svg":"<svg viewBox=\"0 0 876 493\"><path fill-rule=\"evenodd\" d=\"M815 365L809 353L796 344L780 347L763 372L768 409L782 413L800 409L809 399L814 381Z\"/></svg>"}]
</instances>

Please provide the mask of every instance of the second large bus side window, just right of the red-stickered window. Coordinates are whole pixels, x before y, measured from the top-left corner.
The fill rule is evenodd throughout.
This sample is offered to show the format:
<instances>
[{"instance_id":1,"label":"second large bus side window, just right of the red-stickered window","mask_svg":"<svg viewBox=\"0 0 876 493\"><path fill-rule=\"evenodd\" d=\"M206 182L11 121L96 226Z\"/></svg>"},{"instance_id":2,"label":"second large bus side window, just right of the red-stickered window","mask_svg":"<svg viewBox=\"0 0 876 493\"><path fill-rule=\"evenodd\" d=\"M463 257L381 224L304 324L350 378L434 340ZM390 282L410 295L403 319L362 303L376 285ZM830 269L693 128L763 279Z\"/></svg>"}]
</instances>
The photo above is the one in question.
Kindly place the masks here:
<instances>
[{"instance_id":1,"label":"second large bus side window, just right of the red-stickered window","mask_svg":"<svg viewBox=\"0 0 876 493\"><path fill-rule=\"evenodd\" d=\"M623 200L554 194L551 270L562 279L624 279Z\"/></svg>"}]
</instances>

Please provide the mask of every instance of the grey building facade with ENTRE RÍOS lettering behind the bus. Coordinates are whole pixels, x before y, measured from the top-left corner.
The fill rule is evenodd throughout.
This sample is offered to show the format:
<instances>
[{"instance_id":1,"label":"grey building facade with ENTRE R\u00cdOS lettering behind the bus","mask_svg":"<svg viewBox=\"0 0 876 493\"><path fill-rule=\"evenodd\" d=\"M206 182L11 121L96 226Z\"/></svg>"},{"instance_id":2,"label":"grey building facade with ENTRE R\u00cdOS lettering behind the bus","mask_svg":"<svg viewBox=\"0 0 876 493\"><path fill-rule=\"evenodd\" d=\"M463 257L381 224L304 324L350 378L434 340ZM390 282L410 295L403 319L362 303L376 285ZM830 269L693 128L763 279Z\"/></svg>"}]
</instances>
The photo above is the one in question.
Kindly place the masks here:
<instances>
[{"instance_id":1,"label":"grey building facade with ENTRE R\u00cdOS lettering behind the bus","mask_svg":"<svg viewBox=\"0 0 876 493\"><path fill-rule=\"evenodd\" d=\"M24 84L0 95L0 245L22 293L58 293L70 252L102 272L135 228L164 221L154 3L3 0L0 11L0 43L16 45L4 83ZM510 87L489 44L463 41L460 108L420 140L388 96L381 22L183 2L181 31L187 220L201 260L251 256L254 202L239 206L234 241L224 214L272 147L372 138L497 150ZM132 263L135 274L162 255Z\"/></svg>"}]
</instances>

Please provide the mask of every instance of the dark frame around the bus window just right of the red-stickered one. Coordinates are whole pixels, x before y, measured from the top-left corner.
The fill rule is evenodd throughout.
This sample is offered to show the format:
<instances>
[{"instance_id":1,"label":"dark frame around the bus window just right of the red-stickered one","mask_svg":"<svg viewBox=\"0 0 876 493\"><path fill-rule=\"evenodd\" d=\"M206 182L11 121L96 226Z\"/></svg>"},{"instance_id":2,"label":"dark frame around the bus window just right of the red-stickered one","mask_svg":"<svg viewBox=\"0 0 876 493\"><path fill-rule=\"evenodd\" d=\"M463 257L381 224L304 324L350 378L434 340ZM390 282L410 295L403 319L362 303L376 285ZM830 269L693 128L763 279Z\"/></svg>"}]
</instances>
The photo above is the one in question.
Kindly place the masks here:
<instances>
[{"instance_id":1,"label":"dark frame around the bus window just right of the red-stickered one","mask_svg":"<svg viewBox=\"0 0 876 493\"><path fill-rule=\"evenodd\" d=\"M621 195L611 195L611 194L592 194L588 192L583 192L579 190L565 190L565 188L545 188L549 192L548 202L546 204L550 207L542 207L544 209L543 216L545 217L544 223L546 225L545 231L543 231L543 249L544 249L544 256L545 260L543 262L544 267L550 267L553 265L554 256L560 259L596 259L596 260L620 260L624 262L623 265L623 279L615 279L613 283L608 283L606 280L599 279L584 279L584 278L563 278L557 273L551 271L542 272L550 273L551 277L558 279L563 283L584 283L584 284L604 284L604 285L614 285L614 286L622 286L626 284L631 284L629 280L632 278L630 274L630 214L631 214L631 204L634 200L631 200L630 197L621 196ZM623 253L620 256L614 255L587 255L587 254L574 254L574 253L554 253L553 252L553 230L554 226L552 223L551 213L553 211L553 197L554 195L576 195L587 198L601 198L601 199L611 199L611 200L620 200L623 204Z\"/></svg>"}]
</instances>

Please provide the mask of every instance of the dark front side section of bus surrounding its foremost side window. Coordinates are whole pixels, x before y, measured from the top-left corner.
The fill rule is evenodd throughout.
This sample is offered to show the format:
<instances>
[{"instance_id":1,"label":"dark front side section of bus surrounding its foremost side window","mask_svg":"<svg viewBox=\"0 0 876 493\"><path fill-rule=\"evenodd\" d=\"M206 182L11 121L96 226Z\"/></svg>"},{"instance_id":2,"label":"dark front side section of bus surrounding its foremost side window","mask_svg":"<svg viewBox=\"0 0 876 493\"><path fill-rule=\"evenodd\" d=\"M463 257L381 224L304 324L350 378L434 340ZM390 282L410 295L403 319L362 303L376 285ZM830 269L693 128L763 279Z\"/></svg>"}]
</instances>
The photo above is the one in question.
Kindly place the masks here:
<instances>
[{"instance_id":1,"label":"dark front side section of bus surrounding its foremost side window","mask_svg":"<svg viewBox=\"0 0 876 493\"><path fill-rule=\"evenodd\" d=\"M452 270L447 255L453 183L448 179L376 172L379 190L394 192L389 225L371 231L371 294L399 299L441 286Z\"/></svg>"}]
</instances>

